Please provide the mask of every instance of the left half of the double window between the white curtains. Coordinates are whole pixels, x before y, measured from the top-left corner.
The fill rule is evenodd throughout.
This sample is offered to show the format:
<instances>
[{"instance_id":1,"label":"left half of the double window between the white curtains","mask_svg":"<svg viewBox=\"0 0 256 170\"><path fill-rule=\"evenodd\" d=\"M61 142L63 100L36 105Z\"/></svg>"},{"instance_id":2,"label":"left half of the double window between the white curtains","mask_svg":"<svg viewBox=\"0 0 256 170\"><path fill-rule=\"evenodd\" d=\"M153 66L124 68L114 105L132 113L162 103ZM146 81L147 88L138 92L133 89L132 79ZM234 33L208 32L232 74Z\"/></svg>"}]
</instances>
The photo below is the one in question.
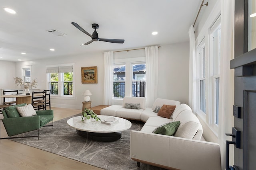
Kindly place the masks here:
<instances>
[{"instance_id":1,"label":"left half of the double window between the white curtains","mask_svg":"<svg viewBox=\"0 0 256 170\"><path fill-rule=\"evenodd\" d=\"M124 98L125 63L115 64L113 70L113 94L115 98Z\"/></svg>"}]
</instances>

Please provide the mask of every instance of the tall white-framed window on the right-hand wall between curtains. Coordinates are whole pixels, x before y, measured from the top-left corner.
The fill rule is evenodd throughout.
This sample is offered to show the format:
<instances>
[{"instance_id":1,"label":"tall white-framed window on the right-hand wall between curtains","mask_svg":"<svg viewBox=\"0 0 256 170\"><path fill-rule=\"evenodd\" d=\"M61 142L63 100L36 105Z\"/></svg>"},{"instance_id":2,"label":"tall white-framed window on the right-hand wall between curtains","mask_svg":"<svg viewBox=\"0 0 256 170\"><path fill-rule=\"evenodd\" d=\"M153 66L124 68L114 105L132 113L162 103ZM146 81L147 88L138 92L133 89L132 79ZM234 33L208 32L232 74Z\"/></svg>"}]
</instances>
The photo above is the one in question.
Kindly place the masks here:
<instances>
[{"instance_id":1,"label":"tall white-framed window on the right-hand wall between curtains","mask_svg":"<svg viewBox=\"0 0 256 170\"><path fill-rule=\"evenodd\" d=\"M196 112L206 124L218 132L220 92L220 17L207 29L197 48Z\"/></svg>"}]
</instances>

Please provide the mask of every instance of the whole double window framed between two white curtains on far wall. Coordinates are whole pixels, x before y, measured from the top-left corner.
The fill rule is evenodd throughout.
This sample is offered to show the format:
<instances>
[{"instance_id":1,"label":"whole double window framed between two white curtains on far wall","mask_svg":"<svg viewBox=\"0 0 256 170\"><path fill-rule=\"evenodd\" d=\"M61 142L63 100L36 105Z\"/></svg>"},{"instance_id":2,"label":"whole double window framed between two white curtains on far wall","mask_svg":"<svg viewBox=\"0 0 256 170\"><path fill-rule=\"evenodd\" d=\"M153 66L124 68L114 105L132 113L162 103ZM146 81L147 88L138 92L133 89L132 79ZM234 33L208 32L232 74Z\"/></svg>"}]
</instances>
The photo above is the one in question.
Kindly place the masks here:
<instances>
[{"instance_id":1,"label":"whole double window framed between two white curtains on far wall","mask_svg":"<svg viewBox=\"0 0 256 170\"><path fill-rule=\"evenodd\" d=\"M145 57L115 59L113 65L114 99L146 96Z\"/></svg>"}]
</instances>

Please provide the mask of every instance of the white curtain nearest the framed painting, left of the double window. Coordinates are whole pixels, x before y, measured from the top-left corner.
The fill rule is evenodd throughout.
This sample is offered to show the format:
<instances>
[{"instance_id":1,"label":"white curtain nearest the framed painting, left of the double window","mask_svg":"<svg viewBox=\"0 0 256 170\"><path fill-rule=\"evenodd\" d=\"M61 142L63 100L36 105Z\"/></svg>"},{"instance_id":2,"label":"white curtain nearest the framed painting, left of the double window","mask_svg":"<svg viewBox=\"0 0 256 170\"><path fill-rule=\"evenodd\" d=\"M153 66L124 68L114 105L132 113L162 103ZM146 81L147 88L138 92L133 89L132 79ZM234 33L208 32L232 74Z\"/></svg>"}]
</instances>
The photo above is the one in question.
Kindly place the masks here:
<instances>
[{"instance_id":1,"label":"white curtain nearest the framed painting, left of the double window","mask_svg":"<svg viewBox=\"0 0 256 170\"><path fill-rule=\"evenodd\" d=\"M104 52L103 104L112 105L113 96L113 51Z\"/></svg>"}]
</instances>

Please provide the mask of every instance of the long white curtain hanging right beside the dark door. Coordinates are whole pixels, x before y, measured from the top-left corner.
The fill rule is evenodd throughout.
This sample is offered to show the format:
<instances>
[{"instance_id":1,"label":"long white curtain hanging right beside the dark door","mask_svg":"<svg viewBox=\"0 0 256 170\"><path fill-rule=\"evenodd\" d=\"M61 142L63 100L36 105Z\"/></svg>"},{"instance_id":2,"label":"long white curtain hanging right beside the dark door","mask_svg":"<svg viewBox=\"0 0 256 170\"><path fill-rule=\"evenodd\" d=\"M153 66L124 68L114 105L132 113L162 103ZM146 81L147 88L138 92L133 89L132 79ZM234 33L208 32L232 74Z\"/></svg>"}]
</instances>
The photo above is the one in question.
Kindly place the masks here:
<instances>
[{"instance_id":1,"label":"long white curtain hanging right beside the dark door","mask_svg":"<svg viewBox=\"0 0 256 170\"><path fill-rule=\"evenodd\" d=\"M221 149L223 169L225 169L225 143L226 140L231 140L225 133L232 133L232 127L234 126L234 70L230 70L230 60L234 59L233 34L234 0L222 0L218 143L220 144ZM233 149L230 148L230 165L233 165L234 162L233 155Z\"/></svg>"}]
</instances>

